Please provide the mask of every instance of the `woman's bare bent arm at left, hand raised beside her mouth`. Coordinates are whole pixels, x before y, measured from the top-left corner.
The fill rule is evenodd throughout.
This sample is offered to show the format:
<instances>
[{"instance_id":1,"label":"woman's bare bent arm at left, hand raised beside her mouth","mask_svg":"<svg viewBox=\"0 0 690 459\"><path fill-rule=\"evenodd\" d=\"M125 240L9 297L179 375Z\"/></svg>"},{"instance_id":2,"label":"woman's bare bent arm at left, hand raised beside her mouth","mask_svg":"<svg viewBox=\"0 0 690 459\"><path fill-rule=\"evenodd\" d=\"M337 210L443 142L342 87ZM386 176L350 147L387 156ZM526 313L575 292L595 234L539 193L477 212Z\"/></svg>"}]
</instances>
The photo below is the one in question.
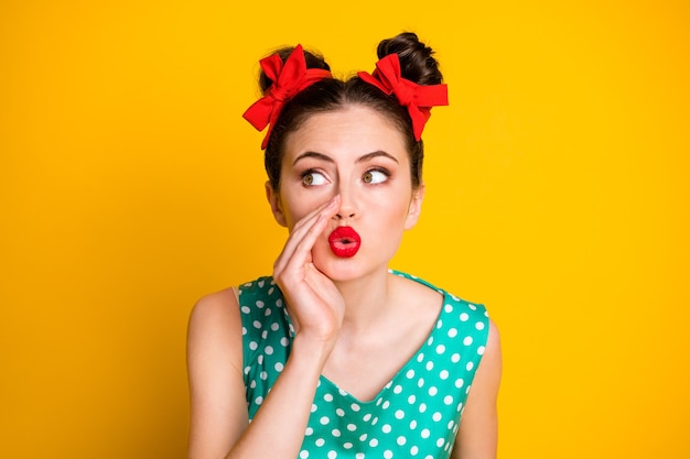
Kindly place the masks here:
<instances>
[{"instance_id":1,"label":"woman's bare bent arm at left, hand raised beside her mouth","mask_svg":"<svg viewBox=\"0 0 690 459\"><path fill-rule=\"evenodd\" d=\"M299 324L290 357L251 423L242 378L241 317L230 289L202 298L190 319L190 459L294 459L320 374L343 319L343 298L311 263L336 207L314 210L291 232L273 277Z\"/></svg>"}]
</instances>

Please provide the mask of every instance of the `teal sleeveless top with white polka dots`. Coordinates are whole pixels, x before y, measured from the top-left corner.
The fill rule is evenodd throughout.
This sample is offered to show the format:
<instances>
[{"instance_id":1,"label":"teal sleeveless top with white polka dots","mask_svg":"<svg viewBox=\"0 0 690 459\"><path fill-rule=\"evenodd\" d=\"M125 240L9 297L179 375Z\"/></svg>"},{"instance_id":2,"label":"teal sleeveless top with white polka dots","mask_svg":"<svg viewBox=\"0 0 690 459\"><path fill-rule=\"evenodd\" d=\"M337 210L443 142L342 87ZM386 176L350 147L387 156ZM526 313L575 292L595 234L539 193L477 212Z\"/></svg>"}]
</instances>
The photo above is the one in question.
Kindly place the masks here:
<instances>
[{"instance_id":1,"label":"teal sleeveless top with white polka dots","mask_svg":"<svg viewBox=\"0 0 690 459\"><path fill-rule=\"evenodd\" d=\"M357 400L322 375L299 459L448 459L451 455L486 346L488 316L483 305L391 272L443 294L435 326L371 401ZM251 420L288 360L294 328L272 277L241 285L239 305Z\"/></svg>"}]
</instances>

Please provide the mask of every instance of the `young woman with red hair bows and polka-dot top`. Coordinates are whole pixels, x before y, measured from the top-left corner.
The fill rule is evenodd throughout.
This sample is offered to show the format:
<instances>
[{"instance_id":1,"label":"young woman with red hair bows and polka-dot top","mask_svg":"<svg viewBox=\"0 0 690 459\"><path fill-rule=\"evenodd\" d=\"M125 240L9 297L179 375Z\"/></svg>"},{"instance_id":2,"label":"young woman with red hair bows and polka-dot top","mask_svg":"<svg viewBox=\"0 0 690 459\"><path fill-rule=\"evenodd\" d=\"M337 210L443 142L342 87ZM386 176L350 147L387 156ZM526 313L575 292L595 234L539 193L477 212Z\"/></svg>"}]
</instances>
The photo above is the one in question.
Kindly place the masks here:
<instances>
[{"instance_id":1,"label":"young woman with red hair bows and polka-dot top","mask_svg":"<svg viewBox=\"0 0 690 459\"><path fill-rule=\"evenodd\" d=\"M190 458L496 457L498 334L482 305L389 270L417 222L421 132L446 105L403 33L346 80L301 46L261 62L272 276L202 298L188 330Z\"/></svg>"}]
</instances>

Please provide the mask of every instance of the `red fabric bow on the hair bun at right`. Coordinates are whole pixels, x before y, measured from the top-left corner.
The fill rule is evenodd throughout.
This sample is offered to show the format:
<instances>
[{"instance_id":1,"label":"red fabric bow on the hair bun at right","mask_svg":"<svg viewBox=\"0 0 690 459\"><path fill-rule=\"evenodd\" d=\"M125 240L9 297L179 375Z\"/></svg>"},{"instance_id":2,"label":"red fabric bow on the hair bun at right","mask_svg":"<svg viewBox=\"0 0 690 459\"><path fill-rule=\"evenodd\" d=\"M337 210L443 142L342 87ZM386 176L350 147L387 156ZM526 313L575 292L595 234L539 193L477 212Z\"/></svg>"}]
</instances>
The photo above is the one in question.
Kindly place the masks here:
<instances>
[{"instance_id":1,"label":"red fabric bow on the hair bun at right","mask_svg":"<svg viewBox=\"0 0 690 459\"><path fill-rule=\"evenodd\" d=\"M402 78L400 59L395 53L377 62L374 74L358 72L357 76L387 95L395 95L400 105L408 108L417 140L421 139L424 124L431 117L431 107L448 106L448 86L445 84L422 86Z\"/></svg>"}]
</instances>

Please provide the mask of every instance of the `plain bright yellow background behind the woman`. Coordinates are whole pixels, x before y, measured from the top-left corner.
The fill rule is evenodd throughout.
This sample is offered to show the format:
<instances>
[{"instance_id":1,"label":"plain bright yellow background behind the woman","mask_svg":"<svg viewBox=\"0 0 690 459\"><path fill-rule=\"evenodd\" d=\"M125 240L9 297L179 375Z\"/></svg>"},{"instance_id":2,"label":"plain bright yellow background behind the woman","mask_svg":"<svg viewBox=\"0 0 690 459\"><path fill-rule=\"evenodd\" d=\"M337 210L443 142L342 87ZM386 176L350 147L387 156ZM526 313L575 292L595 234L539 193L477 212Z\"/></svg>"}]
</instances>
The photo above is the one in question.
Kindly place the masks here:
<instances>
[{"instance_id":1,"label":"plain bright yellow background behind the woman","mask_svg":"<svg viewBox=\"0 0 690 459\"><path fill-rule=\"evenodd\" d=\"M499 456L690 457L690 6L448 3L0 3L0 457L184 457L190 308L284 238L257 61L402 30L452 105L392 267L488 306Z\"/></svg>"}]
</instances>

